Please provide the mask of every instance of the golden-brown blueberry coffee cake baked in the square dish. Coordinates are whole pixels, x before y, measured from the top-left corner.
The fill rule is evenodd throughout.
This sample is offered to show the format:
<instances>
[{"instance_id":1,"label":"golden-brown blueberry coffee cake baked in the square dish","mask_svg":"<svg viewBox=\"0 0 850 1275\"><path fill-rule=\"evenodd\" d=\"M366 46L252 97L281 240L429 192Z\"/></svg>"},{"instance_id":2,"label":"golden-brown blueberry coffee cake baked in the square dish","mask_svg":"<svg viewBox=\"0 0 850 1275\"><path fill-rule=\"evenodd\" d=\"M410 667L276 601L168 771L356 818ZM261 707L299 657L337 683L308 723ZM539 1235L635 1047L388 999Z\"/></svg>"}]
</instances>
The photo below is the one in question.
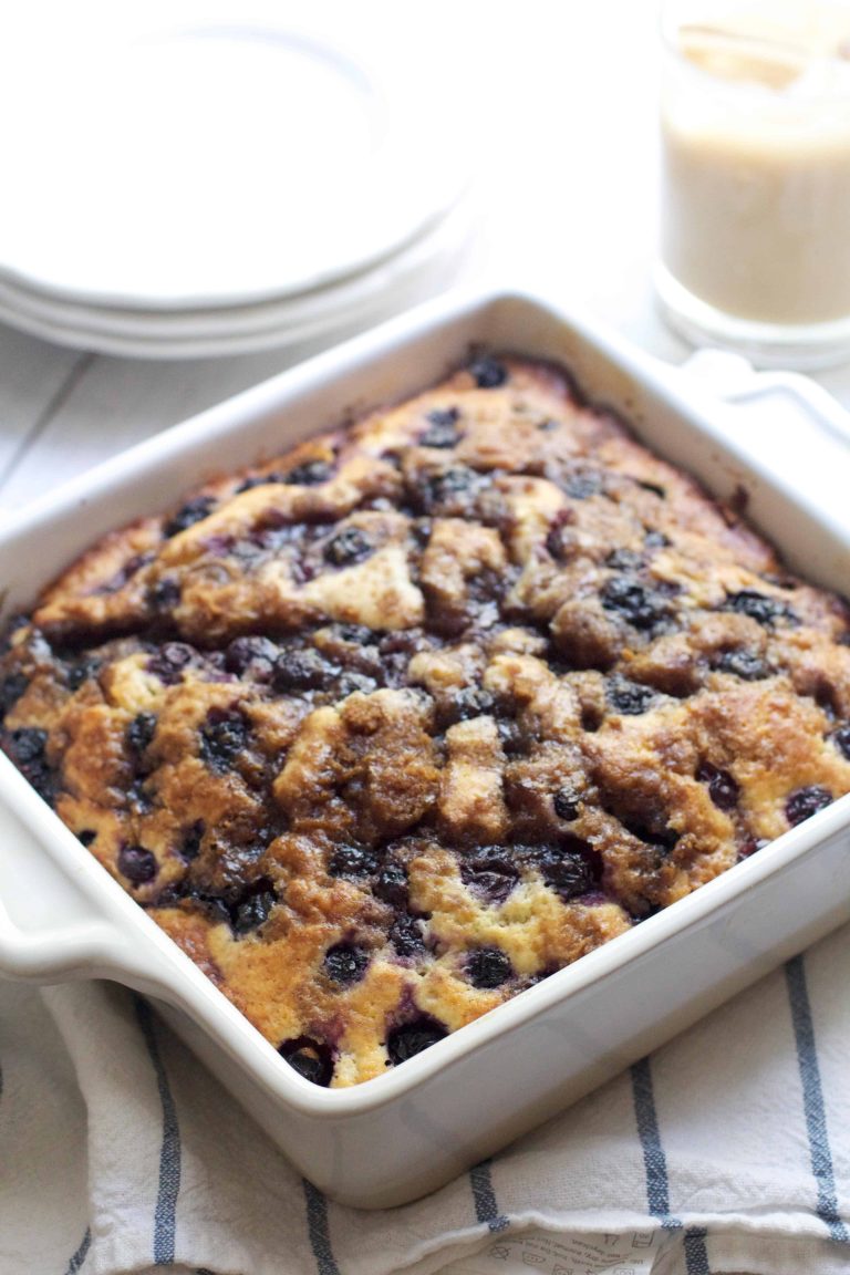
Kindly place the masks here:
<instances>
[{"instance_id":1,"label":"golden-brown blueberry coffee cake baked in the square dish","mask_svg":"<svg viewBox=\"0 0 850 1275\"><path fill-rule=\"evenodd\" d=\"M107 536L3 747L302 1076L398 1066L850 790L850 616L480 356Z\"/></svg>"}]
</instances>

